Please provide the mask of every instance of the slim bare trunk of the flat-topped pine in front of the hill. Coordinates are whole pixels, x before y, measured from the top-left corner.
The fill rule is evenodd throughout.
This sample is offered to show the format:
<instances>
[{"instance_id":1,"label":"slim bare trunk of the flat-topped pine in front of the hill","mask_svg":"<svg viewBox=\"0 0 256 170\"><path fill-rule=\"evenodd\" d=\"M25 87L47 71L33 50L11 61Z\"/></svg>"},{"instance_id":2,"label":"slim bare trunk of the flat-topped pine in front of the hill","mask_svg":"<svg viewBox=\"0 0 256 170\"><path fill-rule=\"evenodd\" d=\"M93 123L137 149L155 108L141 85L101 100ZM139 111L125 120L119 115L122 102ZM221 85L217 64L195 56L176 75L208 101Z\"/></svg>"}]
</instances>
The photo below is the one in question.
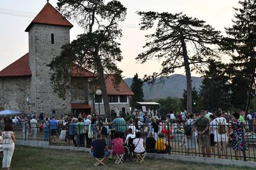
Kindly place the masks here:
<instances>
[{"instance_id":1,"label":"slim bare trunk of the flat-topped pine in front of the hill","mask_svg":"<svg viewBox=\"0 0 256 170\"><path fill-rule=\"evenodd\" d=\"M187 55L187 47L186 42L181 33L181 46L182 46L182 55L184 59L184 65L186 70L187 77L187 113L192 113L192 81L191 81L191 73L189 67L189 56Z\"/></svg>"}]
</instances>

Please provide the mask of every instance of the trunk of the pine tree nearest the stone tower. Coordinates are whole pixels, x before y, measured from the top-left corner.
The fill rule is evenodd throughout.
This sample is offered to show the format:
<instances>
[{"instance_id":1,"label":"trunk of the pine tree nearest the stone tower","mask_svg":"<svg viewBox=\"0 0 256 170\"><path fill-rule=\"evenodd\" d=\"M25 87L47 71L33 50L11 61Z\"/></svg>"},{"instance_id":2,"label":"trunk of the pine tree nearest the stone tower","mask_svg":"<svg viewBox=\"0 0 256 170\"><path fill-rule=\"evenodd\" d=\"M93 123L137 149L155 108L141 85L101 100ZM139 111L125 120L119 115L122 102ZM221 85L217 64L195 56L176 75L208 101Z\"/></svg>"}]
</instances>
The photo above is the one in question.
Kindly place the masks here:
<instances>
[{"instance_id":1,"label":"trunk of the pine tree nearest the stone tower","mask_svg":"<svg viewBox=\"0 0 256 170\"><path fill-rule=\"evenodd\" d=\"M108 93L106 91L106 83L105 83L105 78L104 78L104 70L103 70L101 60L100 60L100 56L98 55L98 52L96 52L95 64L96 64L96 70L97 70L97 73L98 73L98 79L99 79L99 82L100 82L100 88L101 88L101 92L102 92L102 99L103 99L105 116L106 116L106 118L111 119L111 112L110 112L110 107L109 107L109 98L108 98Z\"/></svg>"}]
</instances>

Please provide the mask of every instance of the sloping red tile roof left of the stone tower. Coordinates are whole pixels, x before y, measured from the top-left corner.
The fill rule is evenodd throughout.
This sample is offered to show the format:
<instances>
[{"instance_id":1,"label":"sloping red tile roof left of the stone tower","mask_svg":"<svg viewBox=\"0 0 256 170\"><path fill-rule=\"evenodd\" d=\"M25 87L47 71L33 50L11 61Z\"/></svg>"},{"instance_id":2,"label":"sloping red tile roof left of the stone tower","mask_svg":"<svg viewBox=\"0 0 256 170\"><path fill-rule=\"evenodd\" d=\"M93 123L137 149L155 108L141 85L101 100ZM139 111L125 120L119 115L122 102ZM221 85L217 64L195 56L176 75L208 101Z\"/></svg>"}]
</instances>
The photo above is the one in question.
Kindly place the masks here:
<instances>
[{"instance_id":1,"label":"sloping red tile roof left of the stone tower","mask_svg":"<svg viewBox=\"0 0 256 170\"><path fill-rule=\"evenodd\" d=\"M11 65L0 71L0 77L7 76L31 76L29 67L29 54L23 55L20 59L16 60Z\"/></svg>"}]
</instances>

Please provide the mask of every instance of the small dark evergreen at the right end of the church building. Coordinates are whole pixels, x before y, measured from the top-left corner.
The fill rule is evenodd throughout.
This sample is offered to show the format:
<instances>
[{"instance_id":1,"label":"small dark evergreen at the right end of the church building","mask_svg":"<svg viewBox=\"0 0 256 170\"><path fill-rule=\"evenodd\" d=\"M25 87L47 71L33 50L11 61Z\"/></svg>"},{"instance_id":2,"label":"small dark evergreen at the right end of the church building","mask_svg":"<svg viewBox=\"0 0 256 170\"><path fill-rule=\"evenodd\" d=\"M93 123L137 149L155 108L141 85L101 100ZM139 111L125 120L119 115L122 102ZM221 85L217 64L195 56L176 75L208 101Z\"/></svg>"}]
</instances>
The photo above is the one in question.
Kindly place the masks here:
<instances>
[{"instance_id":1,"label":"small dark evergreen at the right end of the church building","mask_svg":"<svg viewBox=\"0 0 256 170\"><path fill-rule=\"evenodd\" d=\"M132 85L130 85L130 89L134 92L134 95L131 98L131 104L134 106L135 102L142 102L143 101L143 81L139 78L138 74L134 75L132 78Z\"/></svg>"}]
</instances>

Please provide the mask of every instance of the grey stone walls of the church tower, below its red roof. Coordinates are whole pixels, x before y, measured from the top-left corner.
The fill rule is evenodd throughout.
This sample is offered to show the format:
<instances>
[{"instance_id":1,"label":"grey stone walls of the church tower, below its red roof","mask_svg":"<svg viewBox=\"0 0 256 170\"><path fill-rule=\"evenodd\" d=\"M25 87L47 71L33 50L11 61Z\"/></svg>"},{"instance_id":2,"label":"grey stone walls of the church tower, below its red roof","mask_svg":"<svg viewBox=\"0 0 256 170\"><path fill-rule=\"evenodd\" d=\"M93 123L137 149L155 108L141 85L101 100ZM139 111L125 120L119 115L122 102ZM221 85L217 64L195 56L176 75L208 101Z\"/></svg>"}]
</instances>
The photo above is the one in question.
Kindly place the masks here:
<instances>
[{"instance_id":1,"label":"grey stone walls of the church tower, below its red roof","mask_svg":"<svg viewBox=\"0 0 256 170\"><path fill-rule=\"evenodd\" d=\"M54 34L54 44L51 44ZM35 113L58 115L70 112L70 94L66 100L60 99L51 87L49 67L54 57L61 54L61 47L69 43L69 27L34 24L28 33L31 79L31 101Z\"/></svg>"}]
</instances>

